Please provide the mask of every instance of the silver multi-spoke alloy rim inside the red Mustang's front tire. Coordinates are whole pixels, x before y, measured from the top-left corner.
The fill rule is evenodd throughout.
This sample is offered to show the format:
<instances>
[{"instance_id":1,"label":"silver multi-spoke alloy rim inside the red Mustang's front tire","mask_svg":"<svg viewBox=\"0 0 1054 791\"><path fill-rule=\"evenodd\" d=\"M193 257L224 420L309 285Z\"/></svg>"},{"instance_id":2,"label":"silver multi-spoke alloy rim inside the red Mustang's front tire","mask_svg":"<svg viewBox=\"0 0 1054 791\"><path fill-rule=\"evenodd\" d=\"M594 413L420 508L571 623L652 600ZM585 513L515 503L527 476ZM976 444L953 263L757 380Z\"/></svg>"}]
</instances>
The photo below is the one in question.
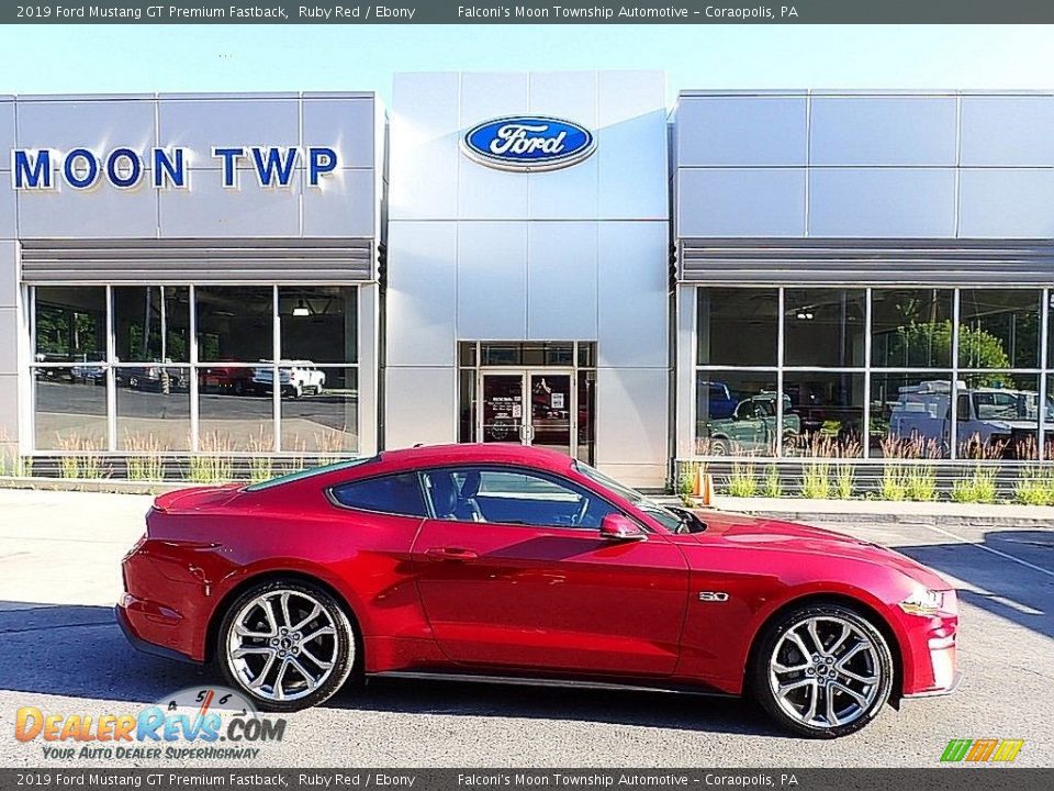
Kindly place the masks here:
<instances>
[{"instance_id":1,"label":"silver multi-spoke alloy rim inside the red Mustang's front tire","mask_svg":"<svg viewBox=\"0 0 1054 791\"><path fill-rule=\"evenodd\" d=\"M793 720L831 728L860 720L882 689L878 647L859 626L837 615L794 623L769 659L769 686Z\"/></svg>"}]
</instances>

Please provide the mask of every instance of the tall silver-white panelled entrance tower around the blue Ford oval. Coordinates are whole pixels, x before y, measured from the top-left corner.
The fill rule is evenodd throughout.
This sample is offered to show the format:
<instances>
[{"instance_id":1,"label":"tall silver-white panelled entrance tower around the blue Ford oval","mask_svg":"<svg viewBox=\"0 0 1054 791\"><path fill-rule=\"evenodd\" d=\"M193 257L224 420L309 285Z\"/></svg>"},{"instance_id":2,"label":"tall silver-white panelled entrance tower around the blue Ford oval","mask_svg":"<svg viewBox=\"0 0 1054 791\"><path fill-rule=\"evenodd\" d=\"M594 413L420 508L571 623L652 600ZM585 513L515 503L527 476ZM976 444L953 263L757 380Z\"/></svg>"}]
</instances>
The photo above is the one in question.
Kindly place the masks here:
<instances>
[{"instance_id":1,"label":"tall silver-white panelled entrance tower around the blue Ford oval","mask_svg":"<svg viewBox=\"0 0 1054 791\"><path fill-rule=\"evenodd\" d=\"M457 439L459 341L594 341L596 461L629 483L669 467L665 86L655 71L395 78L385 444ZM593 130L562 170L495 170L464 130L514 114Z\"/></svg>"}]
</instances>

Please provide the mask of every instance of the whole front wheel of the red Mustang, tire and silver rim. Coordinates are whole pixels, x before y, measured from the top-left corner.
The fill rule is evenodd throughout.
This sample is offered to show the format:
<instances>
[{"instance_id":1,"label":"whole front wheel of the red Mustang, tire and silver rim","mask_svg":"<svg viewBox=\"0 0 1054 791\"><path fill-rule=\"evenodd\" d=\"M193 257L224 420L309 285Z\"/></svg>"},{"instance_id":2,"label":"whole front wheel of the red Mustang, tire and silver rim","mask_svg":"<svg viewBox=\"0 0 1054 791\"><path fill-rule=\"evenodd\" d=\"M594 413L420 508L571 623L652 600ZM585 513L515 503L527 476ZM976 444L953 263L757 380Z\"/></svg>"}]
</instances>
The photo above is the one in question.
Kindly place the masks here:
<instances>
[{"instance_id":1,"label":"whole front wheel of the red Mustang, tire and silver rim","mask_svg":"<svg viewBox=\"0 0 1054 791\"><path fill-rule=\"evenodd\" d=\"M893 690L889 644L842 604L796 608L774 622L754 656L753 691L784 727L814 738L859 731Z\"/></svg>"}]
</instances>

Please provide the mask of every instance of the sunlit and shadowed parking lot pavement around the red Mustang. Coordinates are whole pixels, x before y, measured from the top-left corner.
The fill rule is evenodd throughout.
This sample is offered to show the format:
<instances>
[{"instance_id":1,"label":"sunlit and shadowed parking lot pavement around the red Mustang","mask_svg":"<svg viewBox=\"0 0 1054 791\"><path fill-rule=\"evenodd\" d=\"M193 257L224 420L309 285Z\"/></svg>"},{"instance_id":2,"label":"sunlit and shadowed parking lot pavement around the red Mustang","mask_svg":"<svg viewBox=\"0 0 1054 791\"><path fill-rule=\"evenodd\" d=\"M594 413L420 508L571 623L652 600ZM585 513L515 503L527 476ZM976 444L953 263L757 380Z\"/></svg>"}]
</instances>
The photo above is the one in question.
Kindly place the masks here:
<instances>
[{"instance_id":1,"label":"sunlit and shadowed parking lot pavement around the red Mustang","mask_svg":"<svg viewBox=\"0 0 1054 791\"><path fill-rule=\"evenodd\" d=\"M0 766L46 766L15 711L135 712L210 669L127 646L111 606L149 498L0 491ZM831 526L829 522L825 526ZM951 738L1023 738L1051 766L1054 530L868 522L838 528L896 547L961 589L961 666L948 698L888 709L863 732L810 742L739 701L659 693L370 682L289 716L262 766L935 766ZM229 762L229 761L228 761ZM90 761L88 761L90 764ZM97 761L105 765L149 761ZM78 764L81 765L81 764Z\"/></svg>"}]
</instances>

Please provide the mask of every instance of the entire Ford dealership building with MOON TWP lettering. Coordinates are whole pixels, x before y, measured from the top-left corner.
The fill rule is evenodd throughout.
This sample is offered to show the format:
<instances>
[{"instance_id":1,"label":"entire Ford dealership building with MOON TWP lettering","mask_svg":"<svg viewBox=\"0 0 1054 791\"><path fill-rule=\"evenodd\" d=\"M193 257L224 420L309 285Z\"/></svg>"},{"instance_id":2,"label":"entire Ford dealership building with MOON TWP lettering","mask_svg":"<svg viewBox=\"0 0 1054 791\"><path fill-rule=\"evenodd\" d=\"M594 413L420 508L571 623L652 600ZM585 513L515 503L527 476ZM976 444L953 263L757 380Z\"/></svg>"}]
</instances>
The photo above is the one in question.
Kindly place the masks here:
<instances>
[{"instance_id":1,"label":"entire Ford dealership building with MOON TWP lettering","mask_svg":"<svg viewBox=\"0 0 1054 791\"><path fill-rule=\"evenodd\" d=\"M1054 455L1054 93L405 74L0 97L0 452L37 470Z\"/></svg>"}]
</instances>

